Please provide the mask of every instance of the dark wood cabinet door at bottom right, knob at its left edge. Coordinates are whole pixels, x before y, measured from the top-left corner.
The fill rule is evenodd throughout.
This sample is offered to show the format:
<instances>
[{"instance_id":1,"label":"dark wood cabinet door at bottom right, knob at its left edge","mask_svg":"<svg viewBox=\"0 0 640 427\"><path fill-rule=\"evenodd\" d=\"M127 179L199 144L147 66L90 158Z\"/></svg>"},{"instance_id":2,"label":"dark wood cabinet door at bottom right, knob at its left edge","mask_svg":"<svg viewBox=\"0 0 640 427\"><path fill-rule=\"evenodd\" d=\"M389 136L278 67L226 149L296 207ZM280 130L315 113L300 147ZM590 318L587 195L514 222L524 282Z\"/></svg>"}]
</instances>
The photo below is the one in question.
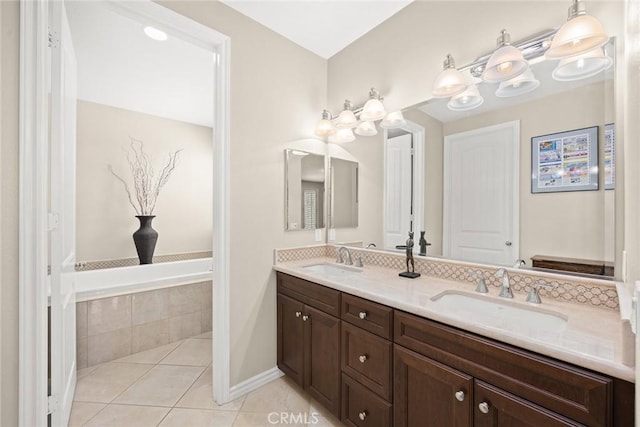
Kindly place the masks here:
<instances>
[{"instance_id":1,"label":"dark wood cabinet door at bottom right, knob at its left edge","mask_svg":"<svg viewBox=\"0 0 640 427\"><path fill-rule=\"evenodd\" d=\"M475 427L583 425L479 380L476 380L474 392Z\"/></svg>"}]
</instances>

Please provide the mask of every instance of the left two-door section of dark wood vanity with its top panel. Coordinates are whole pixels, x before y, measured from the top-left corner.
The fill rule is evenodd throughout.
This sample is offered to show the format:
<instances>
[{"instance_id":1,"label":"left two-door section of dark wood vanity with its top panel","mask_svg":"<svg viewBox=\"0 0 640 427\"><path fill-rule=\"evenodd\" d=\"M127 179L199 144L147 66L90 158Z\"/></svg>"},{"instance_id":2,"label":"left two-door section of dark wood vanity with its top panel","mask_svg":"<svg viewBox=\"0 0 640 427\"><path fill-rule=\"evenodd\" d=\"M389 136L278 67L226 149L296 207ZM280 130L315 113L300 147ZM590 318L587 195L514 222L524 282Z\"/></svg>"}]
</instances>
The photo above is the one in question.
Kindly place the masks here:
<instances>
[{"instance_id":1,"label":"left two-door section of dark wood vanity with its top panel","mask_svg":"<svg viewBox=\"0 0 640 427\"><path fill-rule=\"evenodd\" d=\"M278 274L277 307L278 368L339 417L340 293Z\"/></svg>"}]
</instances>

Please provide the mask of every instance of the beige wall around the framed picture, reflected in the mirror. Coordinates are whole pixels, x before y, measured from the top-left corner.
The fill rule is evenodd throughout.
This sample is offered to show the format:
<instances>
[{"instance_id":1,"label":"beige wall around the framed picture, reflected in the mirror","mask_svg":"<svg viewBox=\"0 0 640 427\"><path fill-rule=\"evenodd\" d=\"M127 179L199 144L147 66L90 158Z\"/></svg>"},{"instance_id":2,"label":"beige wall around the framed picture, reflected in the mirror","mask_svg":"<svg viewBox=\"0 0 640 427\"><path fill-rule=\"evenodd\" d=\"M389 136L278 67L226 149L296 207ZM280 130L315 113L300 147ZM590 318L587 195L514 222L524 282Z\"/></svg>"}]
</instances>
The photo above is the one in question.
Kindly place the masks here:
<instances>
[{"instance_id":1,"label":"beige wall around the framed picture, reflected in the mirror","mask_svg":"<svg viewBox=\"0 0 640 427\"><path fill-rule=\"evenodd\" d=\"M604 82L594 83L444 124L446 136L520 121L520 257L527 265L533 255L613 261L613 253L605 254L613 241L612 234L605 236L605 218L611 218L614 209L613 203L605 203L605 195L612 190L604 190L602 179L598 191L531 193L531 138L535 136L600 126L602 170L604 89ZM611 233L610 228L607 231Z\"/></svg>"}]
</instances>

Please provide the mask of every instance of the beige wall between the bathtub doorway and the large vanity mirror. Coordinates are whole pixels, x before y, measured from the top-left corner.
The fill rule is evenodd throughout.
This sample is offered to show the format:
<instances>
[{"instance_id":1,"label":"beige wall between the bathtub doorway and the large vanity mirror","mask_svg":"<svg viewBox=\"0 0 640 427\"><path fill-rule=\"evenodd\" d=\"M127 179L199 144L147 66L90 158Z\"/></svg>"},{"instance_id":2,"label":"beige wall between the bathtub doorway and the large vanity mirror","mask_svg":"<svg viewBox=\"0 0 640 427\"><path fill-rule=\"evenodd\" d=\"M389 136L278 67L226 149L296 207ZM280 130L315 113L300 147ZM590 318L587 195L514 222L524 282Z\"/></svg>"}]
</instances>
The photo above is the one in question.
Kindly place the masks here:
<instances>
[{"instance_id":1,"label":"beige wall between the bathtub doorway and the large vanity mirror","mask_svg":"<svg viewBox=\"0 0 640 427\"><path fill-rule=\"evenodd\" d=\"M284 231L284 149L313 151L326 61L218 2L162 2L231 37L231 384L276 364L273 248L314 243ZM256 188L256 182L260 186Z\"/></svg>"}]
</instances>

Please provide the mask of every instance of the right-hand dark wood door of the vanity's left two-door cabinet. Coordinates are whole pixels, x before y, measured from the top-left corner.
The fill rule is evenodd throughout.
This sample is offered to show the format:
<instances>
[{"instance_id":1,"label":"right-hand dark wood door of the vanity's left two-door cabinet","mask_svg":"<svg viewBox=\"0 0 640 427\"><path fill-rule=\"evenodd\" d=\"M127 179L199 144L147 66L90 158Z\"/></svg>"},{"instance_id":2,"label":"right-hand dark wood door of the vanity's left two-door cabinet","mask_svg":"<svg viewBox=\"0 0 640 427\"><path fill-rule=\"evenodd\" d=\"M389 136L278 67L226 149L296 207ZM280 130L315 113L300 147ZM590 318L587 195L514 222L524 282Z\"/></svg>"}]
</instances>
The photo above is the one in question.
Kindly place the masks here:
<instances>
[{"instance_id":1,"label":"right-hand dark wood door of the vanity's left two-door cabinet","mask_svg":"<svg viewBox=\"0 0 640 427\"><path fill-rule=\"evenodd\" d=\"M340 319L305 306L304 388L340 417Z\"/></svg>"}]
</instances>

